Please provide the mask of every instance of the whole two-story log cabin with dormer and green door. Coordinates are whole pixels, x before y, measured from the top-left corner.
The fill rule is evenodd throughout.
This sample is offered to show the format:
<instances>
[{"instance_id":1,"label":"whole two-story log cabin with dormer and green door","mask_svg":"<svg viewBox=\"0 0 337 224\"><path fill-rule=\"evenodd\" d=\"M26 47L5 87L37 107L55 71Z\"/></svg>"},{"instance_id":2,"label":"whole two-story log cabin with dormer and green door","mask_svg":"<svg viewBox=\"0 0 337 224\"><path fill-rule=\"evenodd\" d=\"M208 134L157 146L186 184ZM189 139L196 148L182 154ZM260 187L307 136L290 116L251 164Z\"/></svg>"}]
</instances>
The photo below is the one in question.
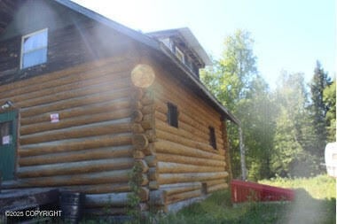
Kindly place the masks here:
<instances>
[{"instance_id":1,"label":"whole two-story log cabin with dormer and green door","mask_svg":"<svg viewBox=\"0 0 337 224\"><path fill-rule=\"evenodd\" d=\"M2 189L83 192L87 212L174 211L228 188L227 122L189 28L148 34L68 0L0 1ZM105 209L106 212L106 209Z\"/></svg>"}]
</instances>

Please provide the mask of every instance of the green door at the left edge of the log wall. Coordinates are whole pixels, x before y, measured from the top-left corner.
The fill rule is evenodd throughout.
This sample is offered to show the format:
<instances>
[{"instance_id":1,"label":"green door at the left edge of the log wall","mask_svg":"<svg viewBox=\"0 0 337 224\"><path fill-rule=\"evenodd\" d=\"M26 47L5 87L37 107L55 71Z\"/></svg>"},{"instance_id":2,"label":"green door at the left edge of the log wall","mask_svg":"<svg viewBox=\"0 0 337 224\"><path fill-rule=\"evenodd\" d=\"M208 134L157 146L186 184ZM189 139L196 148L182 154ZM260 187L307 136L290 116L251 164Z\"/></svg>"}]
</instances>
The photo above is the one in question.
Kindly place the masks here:
<instances>
[{"instance_id":1,"label":"green door at the left edge of the log wall","mask_svg":"<svg viewBox=\"0 0 337 224\"><path fill-rule=\"evenodd\" d=\"M3 181L14 179L18 112L0 113L0 173Z\"/></svg>"}]
</instances>

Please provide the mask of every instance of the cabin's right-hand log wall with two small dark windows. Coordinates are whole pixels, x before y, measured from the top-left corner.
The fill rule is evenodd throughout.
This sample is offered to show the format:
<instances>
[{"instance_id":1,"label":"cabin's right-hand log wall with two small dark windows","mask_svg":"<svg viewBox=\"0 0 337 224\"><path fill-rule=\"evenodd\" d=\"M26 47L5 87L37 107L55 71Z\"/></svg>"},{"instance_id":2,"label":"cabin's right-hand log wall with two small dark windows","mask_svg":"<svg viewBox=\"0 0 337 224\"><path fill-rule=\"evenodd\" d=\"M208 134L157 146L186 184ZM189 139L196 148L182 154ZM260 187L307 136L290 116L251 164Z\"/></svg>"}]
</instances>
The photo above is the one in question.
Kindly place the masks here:
<instances>
[{"instance_id":1,"label":"cabin's right-hand log wall with two small dark windows","mask_svg":"<svg viewBox=\"0 0 337 224\"><path fill-rule=\"evenodd\" d=\"M152 127L153 147L146 160L150 166L150 204L167 210L174 205L205 197L228 187L225 158L228 143L221 115L160 66L146 96L153 103L143 107L143 127ZM176 104L178 127L168 124L168 103ZM215 128L216 149L209 142L209 127Z\"/></svg>"}]
</instances>

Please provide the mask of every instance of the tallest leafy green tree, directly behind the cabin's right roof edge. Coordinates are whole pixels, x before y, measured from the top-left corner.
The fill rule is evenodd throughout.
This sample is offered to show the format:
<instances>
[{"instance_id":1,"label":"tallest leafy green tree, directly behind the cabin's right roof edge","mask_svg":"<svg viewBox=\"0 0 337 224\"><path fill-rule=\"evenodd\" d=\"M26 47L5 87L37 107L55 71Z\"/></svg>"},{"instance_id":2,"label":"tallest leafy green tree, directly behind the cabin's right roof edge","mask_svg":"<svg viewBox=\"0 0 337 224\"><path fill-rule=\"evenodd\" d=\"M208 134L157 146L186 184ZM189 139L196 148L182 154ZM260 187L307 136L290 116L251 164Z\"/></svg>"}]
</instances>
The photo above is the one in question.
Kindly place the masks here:
<instances>
[{"instance_id":1,"label":"tallest leafy green tree, directly behind the cabin's right roof edge","mask_svg":"<svg viewBox=\"0 0 337 224\"><path fill-rule=\"evenodd\" d=\"M268 85L256 68L254 40L238 30L225 38L223 56L200 77L218 100L241 121L247 150L247 166L255 179L270 175L269 155L273 133ZM229 125L233 176L240 174L238 127Z\"/></svg>"}]
</instances>

